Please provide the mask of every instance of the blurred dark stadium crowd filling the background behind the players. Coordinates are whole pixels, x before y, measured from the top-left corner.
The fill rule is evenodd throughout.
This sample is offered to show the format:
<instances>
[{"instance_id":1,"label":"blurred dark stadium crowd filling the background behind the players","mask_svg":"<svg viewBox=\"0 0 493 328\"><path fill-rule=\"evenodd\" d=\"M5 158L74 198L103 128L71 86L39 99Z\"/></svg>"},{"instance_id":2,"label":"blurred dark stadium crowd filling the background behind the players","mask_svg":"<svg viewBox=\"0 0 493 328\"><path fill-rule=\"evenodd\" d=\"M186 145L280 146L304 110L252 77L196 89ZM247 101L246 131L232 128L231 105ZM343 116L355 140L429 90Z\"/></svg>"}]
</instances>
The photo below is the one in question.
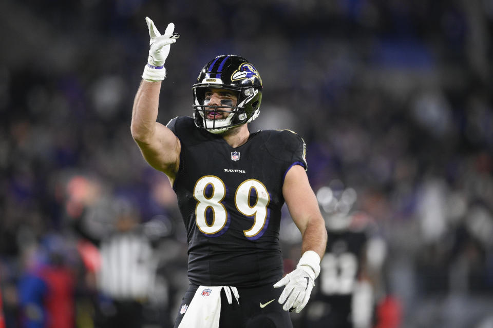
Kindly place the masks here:
<instances>
[{"instance_id":1,"label":"blurred dark stadium crowd filling the background behind the players","mask_svg":"<svg viewBox=\"0 0 493 328\"><path fill-rule=\"evenodd\" d=\"M0 282L8 327L50 311L91 327L115 311L111 293L144 303L149 326L177 311L184 228L167 178L144 162L129 129L147 59L145 16L163 30L174 22L181 35L166 61L159 121L192 114L191 86L215 55L249 58L264 84L252 129L303 136L314 190L337 180L354 188L354 209L387 242L386 293L402 304L401 326L493 327L493 1L7 0ZM151 252L142 265L155 273L124 295L98 281L102 245L88 242L133 229L121 216L138 219ZM285 233L285 256L296 262L299 238ZM58 299L42 304L54 286Z\"/></svg>"}]
</instances>

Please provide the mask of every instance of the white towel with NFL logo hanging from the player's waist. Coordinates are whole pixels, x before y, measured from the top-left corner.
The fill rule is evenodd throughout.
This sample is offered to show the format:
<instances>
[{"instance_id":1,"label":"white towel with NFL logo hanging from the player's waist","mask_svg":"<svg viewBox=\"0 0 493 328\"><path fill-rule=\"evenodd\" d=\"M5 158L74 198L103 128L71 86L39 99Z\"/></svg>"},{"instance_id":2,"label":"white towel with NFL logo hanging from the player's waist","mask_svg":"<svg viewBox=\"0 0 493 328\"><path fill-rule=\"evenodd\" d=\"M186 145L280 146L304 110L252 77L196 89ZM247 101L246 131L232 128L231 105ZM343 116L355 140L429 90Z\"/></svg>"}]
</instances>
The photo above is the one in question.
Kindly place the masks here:
<instances>
[{"instance_id":1,"label":"white towel with NFL logo hanging from the player's waist","mask_svg":"<svg viewBox=\"0 0 493 328\"><path fill-rule=\"evenodd\" d=\"M222 289L224 289L228 304L233 302L231 292L233 292L236 302L240 303L240 295L235 287L199 286L178 328L218 328L221 315Z\"/></svg>"}]
</instances>

